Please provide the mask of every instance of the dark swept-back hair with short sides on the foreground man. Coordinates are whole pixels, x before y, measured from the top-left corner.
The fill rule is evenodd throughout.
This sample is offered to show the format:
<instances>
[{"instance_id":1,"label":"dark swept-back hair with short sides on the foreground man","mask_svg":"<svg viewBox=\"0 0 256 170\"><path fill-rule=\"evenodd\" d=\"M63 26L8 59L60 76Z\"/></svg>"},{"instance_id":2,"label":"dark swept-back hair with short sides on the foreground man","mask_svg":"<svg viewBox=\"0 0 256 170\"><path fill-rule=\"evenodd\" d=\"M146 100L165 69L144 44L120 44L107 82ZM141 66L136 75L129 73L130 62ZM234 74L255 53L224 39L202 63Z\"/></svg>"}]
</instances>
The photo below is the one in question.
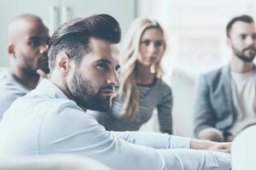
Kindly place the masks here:
<instances>
[{"instance_id":1,"label":"dark swept-back hair with short sides on the foreground man","mask_svg":"<svg viewBox=\"0 0 256 170\"><path fill-rule=\"evenodd\" d=\"M90 37L118 43L121 38L119 23L109 14L95 14L88 18L69 20L60 26L49 40L49 69L55 68L57 54L64 52L76 65L90 52Z\"/></svg>"}]
</instances>

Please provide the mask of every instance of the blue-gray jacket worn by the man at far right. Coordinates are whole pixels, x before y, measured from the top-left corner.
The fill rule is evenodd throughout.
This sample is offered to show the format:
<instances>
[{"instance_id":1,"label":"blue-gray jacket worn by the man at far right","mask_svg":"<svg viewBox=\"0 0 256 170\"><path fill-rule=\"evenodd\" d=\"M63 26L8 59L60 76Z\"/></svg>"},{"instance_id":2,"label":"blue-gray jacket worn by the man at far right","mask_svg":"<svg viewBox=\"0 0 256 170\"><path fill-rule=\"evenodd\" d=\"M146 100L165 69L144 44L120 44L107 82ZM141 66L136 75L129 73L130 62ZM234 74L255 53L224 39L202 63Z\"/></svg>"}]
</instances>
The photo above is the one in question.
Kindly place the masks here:
<instances>
[{"instance_id":1,"label":"blue-gray jacket worn by the man at far right","mask_svg":"<svg viewBox=\"0 0 256 170\"><path fill-rule=\"evenodd\" d=\"M234 123L230 67L224 66L201 76L195 101L195 136L204 128L226 131Z\"/></svg>"}]
</instances>

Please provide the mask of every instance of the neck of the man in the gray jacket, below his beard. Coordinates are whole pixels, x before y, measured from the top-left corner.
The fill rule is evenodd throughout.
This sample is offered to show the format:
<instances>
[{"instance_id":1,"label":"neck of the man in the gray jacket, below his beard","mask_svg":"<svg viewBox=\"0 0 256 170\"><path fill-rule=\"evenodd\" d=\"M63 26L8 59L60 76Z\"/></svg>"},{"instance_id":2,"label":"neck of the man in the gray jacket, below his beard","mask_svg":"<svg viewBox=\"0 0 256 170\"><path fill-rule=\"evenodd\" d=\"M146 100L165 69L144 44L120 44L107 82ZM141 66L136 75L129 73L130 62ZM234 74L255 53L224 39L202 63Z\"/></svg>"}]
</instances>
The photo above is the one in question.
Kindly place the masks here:
<instances>
[{"instance_id":1,"label":"neck of the man in the gray jacket, below his beard","mask_svg":"<svg viewBox=\"0 0 256 170\"><path fill-rule=\"evenodd\" d=\"M230 69L231 71L243 73L247 71L252 71L254 67L253 62L245 62L236 56L232 56L231 62L230 62Z\"/></svg>"}]
</instances>

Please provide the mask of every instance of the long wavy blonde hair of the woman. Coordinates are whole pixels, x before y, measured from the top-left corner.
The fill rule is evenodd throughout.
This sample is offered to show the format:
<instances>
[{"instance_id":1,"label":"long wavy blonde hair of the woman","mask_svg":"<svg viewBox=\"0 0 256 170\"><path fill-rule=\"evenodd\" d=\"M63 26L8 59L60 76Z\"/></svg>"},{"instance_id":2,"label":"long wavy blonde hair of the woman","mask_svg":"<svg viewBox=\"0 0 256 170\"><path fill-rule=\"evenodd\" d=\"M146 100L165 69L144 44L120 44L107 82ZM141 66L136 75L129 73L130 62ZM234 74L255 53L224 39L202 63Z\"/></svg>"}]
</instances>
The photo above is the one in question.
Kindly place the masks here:
<instances>
[{"instance_id":1,"label":"long wavy blonde hair of the woman","mask_svg":"<svg viewBox=\"0 0 256 170\"><path fill-rule=\"evenodd\" d=\"M166 51L166 36L160 24L156 20L148 18L137 18L134 20L127 31L123 48L121 49L119 62L120 70L120 86L119 99L123 101L121 117L125 119L134 119L139 114L139 91L136 81L136 65L137 56L139 55L140 41L144 31L149 28L159 29L164 37L164 53ZM164 55L162 53L162 56ZM162 58L160 56L160 59ZM157 78L163 75L163 69L160 65L160 59L155 64L155 74Z\"/></svg>"}]
</instances>

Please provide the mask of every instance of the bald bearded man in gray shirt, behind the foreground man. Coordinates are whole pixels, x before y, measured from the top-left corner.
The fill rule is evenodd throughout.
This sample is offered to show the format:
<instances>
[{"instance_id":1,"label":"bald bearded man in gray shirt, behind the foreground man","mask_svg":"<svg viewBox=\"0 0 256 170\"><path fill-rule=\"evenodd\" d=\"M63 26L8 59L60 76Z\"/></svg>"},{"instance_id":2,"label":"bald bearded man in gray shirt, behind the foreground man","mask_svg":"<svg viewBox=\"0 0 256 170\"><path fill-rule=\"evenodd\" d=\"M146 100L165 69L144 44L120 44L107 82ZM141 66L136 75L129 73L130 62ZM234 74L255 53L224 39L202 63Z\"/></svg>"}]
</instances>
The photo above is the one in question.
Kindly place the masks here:
<instances>
[{"instance_id":1,"label":"bald bearded man in gray shirt, behind the foreground man","mask_svg":"<svg viewBox=\"0 0 256 170\"><path fill-rule=\"evenodd\" d=\"M48 42L48 28L36 15L22 14L9 24L10 68L0 76L0 121L15 99L37 86L37 70L49 70Z\"/></svg>"}]
</instances>

